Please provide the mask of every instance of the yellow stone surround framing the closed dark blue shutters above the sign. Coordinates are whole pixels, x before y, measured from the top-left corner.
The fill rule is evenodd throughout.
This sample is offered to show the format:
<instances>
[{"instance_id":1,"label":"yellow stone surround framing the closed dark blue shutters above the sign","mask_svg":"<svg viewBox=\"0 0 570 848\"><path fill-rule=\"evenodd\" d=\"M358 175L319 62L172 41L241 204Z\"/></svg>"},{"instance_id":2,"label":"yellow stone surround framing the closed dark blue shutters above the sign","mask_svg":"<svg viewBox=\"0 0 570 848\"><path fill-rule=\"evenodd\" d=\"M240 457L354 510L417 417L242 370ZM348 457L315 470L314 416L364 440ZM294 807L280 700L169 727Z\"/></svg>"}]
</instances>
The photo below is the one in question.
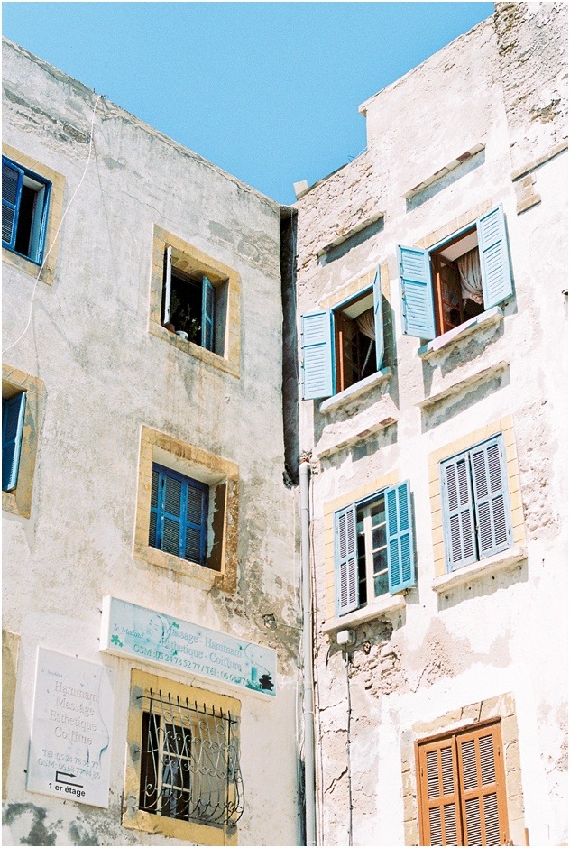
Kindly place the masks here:
<instances>
[{"instance_id":1,"label":"yellow stone surround framing the closed dark blue shutters above the sign","mask_svg":"<svg viewBox=\"0 0 570 848\"><path fill-rule=\"evenodd\" d=\"M214 543L218 550L219 570L188 562L149 545L151 516L152 463L167 465L180 474L214 486L224 482L225 502L218 507L220 520L216 523ZM198 585L216 587L233 593L237 586L239 468L233 462L189 445L179 438L143 424L139 458L139 479L136 503L133 555L153 566L168 568L175 574L193 578ZM214 499L212 499L214 500Z\"/></svg>"}]
</instances>

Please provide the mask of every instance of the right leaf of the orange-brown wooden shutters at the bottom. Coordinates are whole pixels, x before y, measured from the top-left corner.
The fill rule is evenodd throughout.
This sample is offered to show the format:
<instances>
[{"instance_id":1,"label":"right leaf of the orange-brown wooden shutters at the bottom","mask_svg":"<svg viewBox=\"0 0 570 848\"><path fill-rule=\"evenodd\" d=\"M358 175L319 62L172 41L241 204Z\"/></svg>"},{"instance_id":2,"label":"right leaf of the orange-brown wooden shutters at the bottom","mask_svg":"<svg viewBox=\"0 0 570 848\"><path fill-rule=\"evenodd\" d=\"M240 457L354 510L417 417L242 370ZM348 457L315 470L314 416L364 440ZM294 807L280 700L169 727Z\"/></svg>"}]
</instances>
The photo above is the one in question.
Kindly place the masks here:
<instances>
[{"instance_id":1,"label":"right leaf of the orange-brown wooden shutters at the bottom","mask_svg":"<svg viewBox=\"0 0 570 848\"><path fill-rule=\"evenodd\" d=\"M507 798L499 724L457 735L466 845L505 845Z\"/></svg>"}]
</instances>

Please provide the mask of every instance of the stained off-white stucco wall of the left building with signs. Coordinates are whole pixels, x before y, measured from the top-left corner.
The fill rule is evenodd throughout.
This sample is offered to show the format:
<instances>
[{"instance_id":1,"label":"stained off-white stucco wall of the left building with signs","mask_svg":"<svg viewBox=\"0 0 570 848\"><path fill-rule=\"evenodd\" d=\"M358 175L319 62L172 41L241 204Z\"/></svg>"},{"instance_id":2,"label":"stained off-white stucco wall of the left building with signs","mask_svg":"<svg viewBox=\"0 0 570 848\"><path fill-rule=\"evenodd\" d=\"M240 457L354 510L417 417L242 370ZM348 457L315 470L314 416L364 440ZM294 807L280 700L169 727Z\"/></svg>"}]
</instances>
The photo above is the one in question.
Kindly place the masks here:
<instances>
[{"instance_id":1,"label":"stained off-white stucco wall of the left building with signs","mask_svg":"<svg viewBox=\"0 0 570 848\"><path fill-rule=\"evenodd\" d=\"M4 82L5 143L62 175L67 207L96 95L10 42ZM154 226L239 274L239 377L149 332ZM98 653L102 598L115 595L277 650L277 697L238 695L238 839L293 844L299 631L295 502L283 484L280 208L101 98L54 250L51 285L3 263L5 364L45 388L30 518L3 516L4 627L20 637L5 843L169 842L121 826L131 664ZM236 591L133 556L142 424L238 466ZM108 810L25 790L38 645L114 671Z\"/></svg>"}]
</instances>

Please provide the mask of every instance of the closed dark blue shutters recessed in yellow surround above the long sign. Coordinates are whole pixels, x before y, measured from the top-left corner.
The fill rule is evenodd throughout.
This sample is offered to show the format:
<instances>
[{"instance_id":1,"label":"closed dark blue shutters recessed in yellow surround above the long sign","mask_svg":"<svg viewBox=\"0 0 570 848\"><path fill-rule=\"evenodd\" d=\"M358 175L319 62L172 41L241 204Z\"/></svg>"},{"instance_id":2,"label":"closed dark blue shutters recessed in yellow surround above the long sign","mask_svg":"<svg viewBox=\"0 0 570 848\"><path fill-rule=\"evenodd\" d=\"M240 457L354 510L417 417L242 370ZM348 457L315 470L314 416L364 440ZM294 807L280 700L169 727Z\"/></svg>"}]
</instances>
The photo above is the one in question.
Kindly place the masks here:
<instances>
[{"instance_id":1,"label":"closed dark blue shutters recessed in yellow surround above the long sign","mask_svg":"<svg viewBox=\"0 0 570 848\"><path fill-rule=\"evenodd\" d=\"M149 545L189 562L206 565L208 486L152 465Z\"/></svg>"}]
</instances>

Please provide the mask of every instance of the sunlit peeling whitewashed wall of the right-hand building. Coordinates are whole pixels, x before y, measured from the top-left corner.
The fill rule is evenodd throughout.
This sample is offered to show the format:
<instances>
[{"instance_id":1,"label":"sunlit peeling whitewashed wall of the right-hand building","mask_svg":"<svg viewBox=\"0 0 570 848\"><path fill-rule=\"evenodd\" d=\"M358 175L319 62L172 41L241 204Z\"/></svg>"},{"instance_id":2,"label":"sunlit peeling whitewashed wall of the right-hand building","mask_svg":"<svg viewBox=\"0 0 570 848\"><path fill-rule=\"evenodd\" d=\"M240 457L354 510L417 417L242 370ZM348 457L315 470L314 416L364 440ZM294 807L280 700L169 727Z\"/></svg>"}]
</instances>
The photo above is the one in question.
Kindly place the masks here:
<instances>
[{"instance_id":1,"label":"sunlit peeling whitewashed wall of the right-hand building","mask_svg":"<svg viewBox=\"0 0 570 848\"><path fill-rule=\"evenodd\" d=\"M507 734L510 838L524 844L526 829L530 844L567 840L564 34L558 4L500 5L367 101L368 150L297 204L299 314L341 302L380 265L384 331L395 343L388 381L324 410L301 401L300 447L313 456L325 844L345 844L351 826L354 844L418 844L415 740L493 714ZM542 119L538 102L552 104ZM529 160L527 204L516 169ZM496 322L420 357L421 342L402 335L398 245L435 244L499 203L515 297ZM341 228L349 234L381 213L378 233L319 259ZM510 416L523 554L437 593L429 456L504 429ZM326 504L350 502L393 472L410 484L418 581L392 612L347 617L356 637L347 682L341 625L331 622Z\"/></svg>"}]
</instances>

